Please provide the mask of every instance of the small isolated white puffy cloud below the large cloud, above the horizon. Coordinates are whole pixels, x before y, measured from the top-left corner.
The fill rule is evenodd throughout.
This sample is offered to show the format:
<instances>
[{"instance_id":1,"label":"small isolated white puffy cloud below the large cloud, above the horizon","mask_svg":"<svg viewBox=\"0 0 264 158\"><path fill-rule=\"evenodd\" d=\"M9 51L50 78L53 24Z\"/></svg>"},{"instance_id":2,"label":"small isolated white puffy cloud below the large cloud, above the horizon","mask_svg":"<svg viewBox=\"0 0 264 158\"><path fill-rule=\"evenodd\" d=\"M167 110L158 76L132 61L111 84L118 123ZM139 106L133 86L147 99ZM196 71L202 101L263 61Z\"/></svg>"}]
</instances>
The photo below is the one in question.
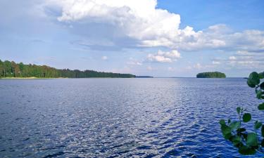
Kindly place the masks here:
<instances>
[{"instance_id":1,"label":"small isolated white puffy cloud below the large cloud, above the horizon","mask_svg":"<svg viewBox=\"0 0 264 158\"><path fill-rule=\"evenodd\" d=\"M179 58L181 58L181 55L176 50L167 52L159 50L158 53L149 54L147 56L147 60L151 62L173 62Z\"/></svg>"}]
</instances>

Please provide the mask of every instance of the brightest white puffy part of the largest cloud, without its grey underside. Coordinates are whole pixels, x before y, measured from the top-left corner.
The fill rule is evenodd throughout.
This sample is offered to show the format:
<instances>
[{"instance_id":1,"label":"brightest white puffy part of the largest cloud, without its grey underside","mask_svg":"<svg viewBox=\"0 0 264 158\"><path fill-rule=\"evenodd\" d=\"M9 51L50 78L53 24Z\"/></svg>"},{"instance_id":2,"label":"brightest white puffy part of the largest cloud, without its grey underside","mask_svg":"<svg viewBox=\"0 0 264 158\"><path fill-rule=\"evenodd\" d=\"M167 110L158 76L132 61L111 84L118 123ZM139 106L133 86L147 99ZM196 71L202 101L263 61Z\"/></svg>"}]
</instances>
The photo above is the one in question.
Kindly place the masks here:
<instances>
[{"instance_id":1,"label":"brightest white puffy part of the largest cloud, without its grey underside","mask_svg":"<svg viewBox=\"0 0 264 158\"><path fill-rule=\"evenodd\" d=\"M156 0L46 0L46 6L61 8L60 22L110 25L118 31L112 36L139 40L142 46L169 45L179 34L192 33L191 27L180 30L180 15L156 8Z\"/></svg>"}]
</instances>

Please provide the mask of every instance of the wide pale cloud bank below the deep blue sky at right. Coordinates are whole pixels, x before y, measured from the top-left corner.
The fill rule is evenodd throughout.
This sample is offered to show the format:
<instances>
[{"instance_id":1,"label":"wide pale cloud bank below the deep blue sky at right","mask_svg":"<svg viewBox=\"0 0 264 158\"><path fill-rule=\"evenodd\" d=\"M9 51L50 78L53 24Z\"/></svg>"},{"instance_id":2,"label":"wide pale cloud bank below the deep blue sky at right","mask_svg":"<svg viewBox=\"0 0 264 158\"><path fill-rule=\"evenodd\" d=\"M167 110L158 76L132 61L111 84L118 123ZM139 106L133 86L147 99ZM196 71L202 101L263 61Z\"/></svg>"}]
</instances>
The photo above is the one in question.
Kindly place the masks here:
<instances>
[{"instance_id":1,"label":"wide pale cloud bank below the deep blue sky at right","mask_svg":"<svg viewBox=\"0 0 264 158\"><path fill-rule=\"evenodd\" d=\"M182 37L174 48L184 51L225 50L225 51L264 51L264 32L244 30L234 32L226 25L213 25L208 29L194 32L191 38Z\"/></svg>"}]
</instances>

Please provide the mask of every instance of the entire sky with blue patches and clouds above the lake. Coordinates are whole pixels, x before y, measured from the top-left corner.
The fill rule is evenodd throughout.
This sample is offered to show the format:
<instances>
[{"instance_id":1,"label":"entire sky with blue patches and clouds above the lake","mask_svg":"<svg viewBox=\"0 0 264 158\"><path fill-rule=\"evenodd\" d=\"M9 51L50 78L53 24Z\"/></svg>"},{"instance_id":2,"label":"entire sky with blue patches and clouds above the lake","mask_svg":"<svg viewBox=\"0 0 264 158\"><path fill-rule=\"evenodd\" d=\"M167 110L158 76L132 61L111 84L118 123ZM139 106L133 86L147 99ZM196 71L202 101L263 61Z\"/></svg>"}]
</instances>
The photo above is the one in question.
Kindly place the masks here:
<instances>
[{"instance_id":1,"label":"entire sky with blue patches and clouds above the lake","mask_svg":"<svg viewBox=\"0 0 264 158\"><path fill-rule=\"evenodd\" d=\"M262 0L1 0L0 59L154 77L264 71Z\"/></svg>"}]
</instances>

